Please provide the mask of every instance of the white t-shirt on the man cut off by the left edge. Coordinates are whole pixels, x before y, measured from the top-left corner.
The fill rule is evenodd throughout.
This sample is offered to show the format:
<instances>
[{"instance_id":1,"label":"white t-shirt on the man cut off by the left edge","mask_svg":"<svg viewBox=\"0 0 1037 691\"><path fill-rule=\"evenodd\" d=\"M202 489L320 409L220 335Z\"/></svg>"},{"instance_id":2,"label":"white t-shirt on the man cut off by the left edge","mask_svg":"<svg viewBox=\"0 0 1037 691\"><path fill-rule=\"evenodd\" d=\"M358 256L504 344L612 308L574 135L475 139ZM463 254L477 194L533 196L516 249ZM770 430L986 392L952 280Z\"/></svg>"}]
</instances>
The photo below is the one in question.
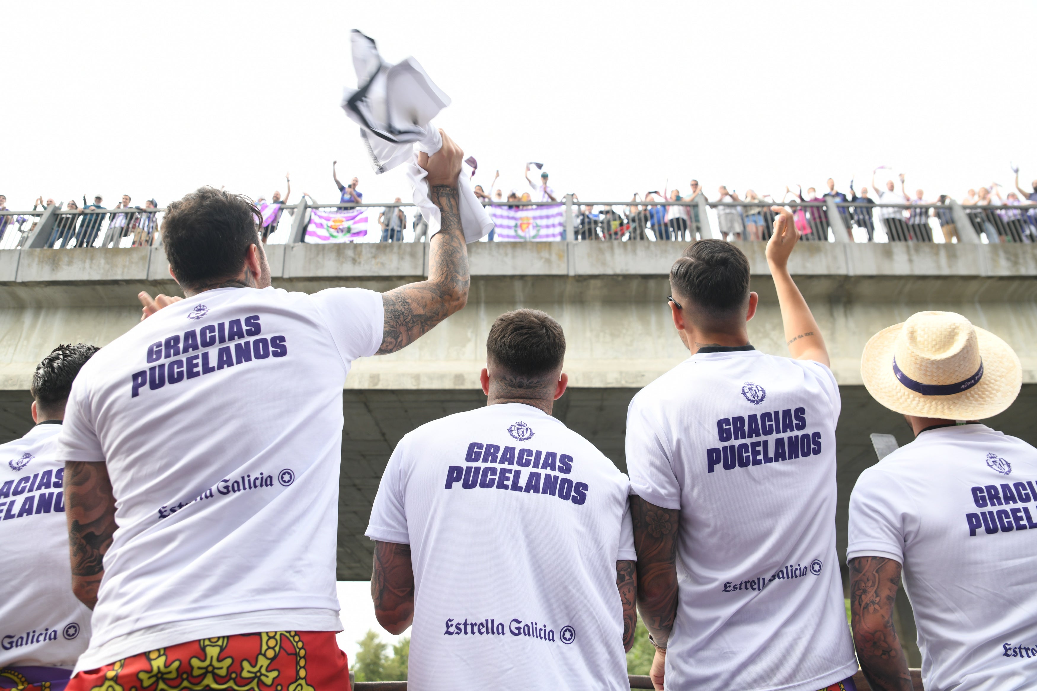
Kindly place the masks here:
<instances>
[{"instance_id":1,"label":"white t-shirt on the man cut off by the left edge","mask_svg":"<svg viewBox=\"0 0 1037 691\"><path fill-rule=\"evenodd\" d=\"M90 639L90 610L72 593L61 425L0 445L0 668L72 667Z\"/></svg>"}]
</instances>

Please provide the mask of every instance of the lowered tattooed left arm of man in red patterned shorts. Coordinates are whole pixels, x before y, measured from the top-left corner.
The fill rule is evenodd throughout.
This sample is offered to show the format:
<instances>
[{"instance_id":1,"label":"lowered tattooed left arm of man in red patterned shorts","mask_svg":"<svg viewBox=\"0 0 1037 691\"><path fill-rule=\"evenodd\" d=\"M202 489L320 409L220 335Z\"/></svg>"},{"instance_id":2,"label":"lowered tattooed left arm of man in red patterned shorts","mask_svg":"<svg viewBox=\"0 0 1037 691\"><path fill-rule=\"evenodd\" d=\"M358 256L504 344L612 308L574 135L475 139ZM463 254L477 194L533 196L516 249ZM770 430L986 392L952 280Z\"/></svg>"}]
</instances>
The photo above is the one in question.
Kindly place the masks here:
<instances>
[{"instance_id":1,"label":"lowered tattooed left arm of man in red patterned shorts","mask_svg":"<svg viewBox=\"0 0 1037 691\"><path fill-rule=\"evenodd\" d=\"M105 576L104 556L115 535L115 497L104 463L65 462L65 520L72 591L93 609Z\"/></svg>"}]
</instances>

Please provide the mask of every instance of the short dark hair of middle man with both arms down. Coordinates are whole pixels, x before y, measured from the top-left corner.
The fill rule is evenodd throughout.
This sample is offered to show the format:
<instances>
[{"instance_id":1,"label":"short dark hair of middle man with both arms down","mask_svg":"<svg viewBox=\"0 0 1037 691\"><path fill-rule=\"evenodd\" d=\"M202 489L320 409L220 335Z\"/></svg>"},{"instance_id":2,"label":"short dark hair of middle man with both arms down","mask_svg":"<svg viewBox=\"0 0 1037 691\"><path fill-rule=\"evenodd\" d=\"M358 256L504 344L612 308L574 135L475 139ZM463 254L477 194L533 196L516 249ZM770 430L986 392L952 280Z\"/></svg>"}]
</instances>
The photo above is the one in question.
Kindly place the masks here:
<instances>
[{"instance_id":1,"label":"short dark hair of middle man with both arms down","mask_svg":"<svg viewBox=\"0 0 1037 691\"><path fill-rule=\"evenodd\" d=\"M509 374L539 377L561 367L565 334L546 312L505 312L489 327L486 355Z\"/></svg>"}]
</instances>

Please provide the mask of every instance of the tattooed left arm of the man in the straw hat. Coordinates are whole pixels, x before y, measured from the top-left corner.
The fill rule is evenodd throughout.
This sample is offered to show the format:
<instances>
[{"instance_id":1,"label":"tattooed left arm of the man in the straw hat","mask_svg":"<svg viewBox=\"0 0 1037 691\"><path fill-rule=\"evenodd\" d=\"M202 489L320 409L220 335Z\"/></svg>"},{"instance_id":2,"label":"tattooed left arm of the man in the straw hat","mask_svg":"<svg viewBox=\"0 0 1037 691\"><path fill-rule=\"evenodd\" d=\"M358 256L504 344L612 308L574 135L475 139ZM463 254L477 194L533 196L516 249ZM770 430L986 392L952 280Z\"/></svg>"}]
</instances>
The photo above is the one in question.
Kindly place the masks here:
<instances>
[{"instance_id":1,"label":"tattooed left arm of the man in the straw hat","mask_svg":"<svg viewBox=\"0 0 1037 691\"><path fill-rule=\"evenodd\" d=\"M907 658L893 628L900 565L882 556L849 562L850 617L861 669L876 691L912 691Z\"/></svg>"}]
</instances>

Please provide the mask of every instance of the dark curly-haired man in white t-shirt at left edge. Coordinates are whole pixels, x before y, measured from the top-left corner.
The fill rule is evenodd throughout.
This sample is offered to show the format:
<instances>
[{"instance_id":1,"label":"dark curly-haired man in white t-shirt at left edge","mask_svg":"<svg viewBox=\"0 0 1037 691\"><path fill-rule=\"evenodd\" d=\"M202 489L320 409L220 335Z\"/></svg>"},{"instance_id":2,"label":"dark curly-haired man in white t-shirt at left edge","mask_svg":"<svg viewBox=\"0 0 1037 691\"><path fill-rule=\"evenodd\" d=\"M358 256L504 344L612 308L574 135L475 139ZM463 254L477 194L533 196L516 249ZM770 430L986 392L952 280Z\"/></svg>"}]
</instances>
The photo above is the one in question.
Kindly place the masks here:
<instances>
[{"instance_id":1,"label":"dark curly-haired man in white t-shirt at left edge","mask_svg":"<svg viewBox=\"0 0 1037 691\"><path fill-rule=\"evenodd\" d=\"M71 586L64 464L54 450L72 382L96 351L52 350L29 388L36 426L0 445L0 688L61 691L90 639L90 610Z\"/></svg>"}]
</instances>

